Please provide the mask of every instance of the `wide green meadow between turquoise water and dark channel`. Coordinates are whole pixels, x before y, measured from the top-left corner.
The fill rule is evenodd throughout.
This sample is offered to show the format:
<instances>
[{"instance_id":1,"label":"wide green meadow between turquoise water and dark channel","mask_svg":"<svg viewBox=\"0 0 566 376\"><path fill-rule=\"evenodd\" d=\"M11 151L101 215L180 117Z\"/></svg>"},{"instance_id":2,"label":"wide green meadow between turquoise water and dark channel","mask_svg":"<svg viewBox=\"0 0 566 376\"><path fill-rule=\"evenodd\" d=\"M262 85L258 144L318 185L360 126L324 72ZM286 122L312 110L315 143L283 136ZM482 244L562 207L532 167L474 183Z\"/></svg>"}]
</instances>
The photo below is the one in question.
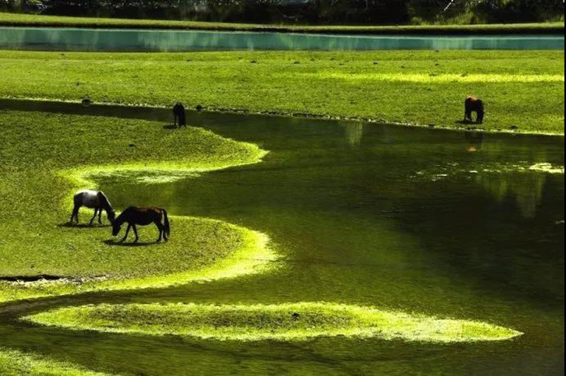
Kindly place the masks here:
<instances>
[{"instance_id":1,"label":"wide green meadow between turquoise water and dark channel","mask_svg":"<svg viewBox=\"0 0 566 376\"><path fill-rule=\"evenodd\" d=\"M0 96L564 134L564 52L0 52Z\"/></svg>"}]
</instances>

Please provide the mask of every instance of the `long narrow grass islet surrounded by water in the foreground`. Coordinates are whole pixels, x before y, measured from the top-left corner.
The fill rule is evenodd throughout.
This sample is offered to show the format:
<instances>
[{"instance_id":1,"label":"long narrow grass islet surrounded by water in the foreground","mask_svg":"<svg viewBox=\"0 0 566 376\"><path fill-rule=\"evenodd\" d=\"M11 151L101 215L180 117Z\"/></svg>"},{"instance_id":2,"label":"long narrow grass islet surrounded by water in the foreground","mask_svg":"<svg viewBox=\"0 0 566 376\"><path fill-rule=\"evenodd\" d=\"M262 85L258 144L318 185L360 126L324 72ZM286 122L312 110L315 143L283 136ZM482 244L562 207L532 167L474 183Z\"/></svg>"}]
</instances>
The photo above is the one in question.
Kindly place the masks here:
<instances>
[{"instance_id":1,"label":"long narrow grass islet surrounded by water in the foreground","mask_svg":"<svg viewBox=\"0 0 566 376\"><path fill-rule=\"evenodd\" d=\"M427 342L498 341L520 332L478 321L437 319L346 304L99 304L42 312L24 320L69 329L296 341L318 336Z\"/></svg>"}]
</instances>

